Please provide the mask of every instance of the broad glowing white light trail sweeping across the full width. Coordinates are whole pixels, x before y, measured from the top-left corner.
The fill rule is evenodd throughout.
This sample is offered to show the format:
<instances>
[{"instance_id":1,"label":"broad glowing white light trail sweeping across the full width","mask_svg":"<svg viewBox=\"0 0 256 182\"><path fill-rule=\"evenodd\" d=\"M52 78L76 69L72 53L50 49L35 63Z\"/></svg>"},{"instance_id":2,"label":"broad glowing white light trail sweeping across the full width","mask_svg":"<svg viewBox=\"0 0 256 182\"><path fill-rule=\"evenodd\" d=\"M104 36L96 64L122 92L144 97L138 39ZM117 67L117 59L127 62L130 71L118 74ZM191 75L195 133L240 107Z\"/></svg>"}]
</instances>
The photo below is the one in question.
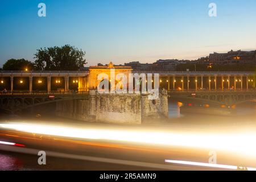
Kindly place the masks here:
<instances>
[{"instance_id":1,"label":"broad glowing white light trail sweeping across the full width","mask_svg":"<svg viewBox=\"0 0 256 182\"><path fill-rule=\"evenodd\" d=\"M13 129L26 133L52 135L93 140L112 140L163 146L194 147L207 150L221 150L256 158L255 133L189 133L167 131L134 131L125 129L81 129L38 125L34 123L2 123L3 129Z\"/></svg>"}]
</instances>

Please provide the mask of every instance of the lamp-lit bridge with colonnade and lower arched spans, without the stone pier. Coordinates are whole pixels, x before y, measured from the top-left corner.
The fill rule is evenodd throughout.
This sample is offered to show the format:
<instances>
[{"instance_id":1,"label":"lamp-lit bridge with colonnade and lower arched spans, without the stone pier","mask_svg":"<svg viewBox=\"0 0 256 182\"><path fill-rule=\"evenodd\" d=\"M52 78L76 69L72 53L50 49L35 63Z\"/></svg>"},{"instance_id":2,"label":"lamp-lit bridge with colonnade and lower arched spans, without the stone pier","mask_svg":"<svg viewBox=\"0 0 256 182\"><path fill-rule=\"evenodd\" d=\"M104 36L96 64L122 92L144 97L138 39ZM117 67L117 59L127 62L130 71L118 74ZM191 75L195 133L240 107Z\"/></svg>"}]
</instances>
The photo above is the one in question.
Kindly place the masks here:
<instances>
[{"instance_id":1,"label":"lamp-lit bridge with colonnade and lower arched spans, without the stone pier","mask_svg":"<svg viewBox=\"0 0 256 182\"><path fill-rule=\"evenodd\" d=\"M255 100L255 72L142 72L110 63L90 67L89 71L1 71L1 107L20 110L60 100L85 98L89 90L96 88L98 74L110 75L112 69L115 69L115 74L126 75L151 73L154 76L154 73L158 73L159 89L168 90L172 98L210 101L228 106Z\"/></svg>"}]
</instances>

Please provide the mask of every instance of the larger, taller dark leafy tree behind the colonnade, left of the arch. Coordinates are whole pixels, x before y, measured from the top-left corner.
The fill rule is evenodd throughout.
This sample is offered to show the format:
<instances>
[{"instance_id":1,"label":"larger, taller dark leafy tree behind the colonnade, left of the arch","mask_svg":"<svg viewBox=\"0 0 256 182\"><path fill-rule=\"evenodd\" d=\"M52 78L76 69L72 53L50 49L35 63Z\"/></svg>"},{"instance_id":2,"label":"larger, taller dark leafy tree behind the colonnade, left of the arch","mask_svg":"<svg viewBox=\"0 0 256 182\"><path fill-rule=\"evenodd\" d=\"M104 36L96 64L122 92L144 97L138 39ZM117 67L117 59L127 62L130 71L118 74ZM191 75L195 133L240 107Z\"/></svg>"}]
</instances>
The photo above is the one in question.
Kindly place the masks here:
<instances>
[{"instance_id":1,"label":"larger, taller dark leafy tree behind the colonnade, left of the arch","mask_svg":"<svg viewBox=\"0 0 256 182\"><path fill-rule=\"evenodd\" d=\"M40 48L35 53L35 68L46 71L77 71L84 68L85 52L73 46Z\"/></svg>"}]
</instances>

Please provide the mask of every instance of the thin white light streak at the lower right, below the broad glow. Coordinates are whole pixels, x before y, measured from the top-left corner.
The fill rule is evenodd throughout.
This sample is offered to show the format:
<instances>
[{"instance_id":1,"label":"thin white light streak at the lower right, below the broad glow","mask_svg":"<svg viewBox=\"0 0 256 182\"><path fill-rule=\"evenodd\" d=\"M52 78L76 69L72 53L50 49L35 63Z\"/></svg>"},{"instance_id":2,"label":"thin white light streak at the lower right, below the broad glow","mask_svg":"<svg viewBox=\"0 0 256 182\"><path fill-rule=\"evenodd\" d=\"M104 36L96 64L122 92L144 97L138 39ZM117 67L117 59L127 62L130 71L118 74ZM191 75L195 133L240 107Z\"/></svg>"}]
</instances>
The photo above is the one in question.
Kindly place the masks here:
<instances>
[{"instance_id":1,"label":"thin white light streak at the lower right, below the broad glow","mask_svg":"<svg viewBox=\"0 0 256 182\"><path fill-rule=\"evenodd\" d=\"M165 162L172 163L172 164L199 166L199 167L213 167L213 168L233 169L233 170L247 169L248 171L256 171L256 168L251 168L251 167L238 167L238 166L230 166L230 165L224 165L224 164L199 163L199 162L190 162L190 161L184 161L184 160L165 160Z\"/></svg>"}]
</instances>

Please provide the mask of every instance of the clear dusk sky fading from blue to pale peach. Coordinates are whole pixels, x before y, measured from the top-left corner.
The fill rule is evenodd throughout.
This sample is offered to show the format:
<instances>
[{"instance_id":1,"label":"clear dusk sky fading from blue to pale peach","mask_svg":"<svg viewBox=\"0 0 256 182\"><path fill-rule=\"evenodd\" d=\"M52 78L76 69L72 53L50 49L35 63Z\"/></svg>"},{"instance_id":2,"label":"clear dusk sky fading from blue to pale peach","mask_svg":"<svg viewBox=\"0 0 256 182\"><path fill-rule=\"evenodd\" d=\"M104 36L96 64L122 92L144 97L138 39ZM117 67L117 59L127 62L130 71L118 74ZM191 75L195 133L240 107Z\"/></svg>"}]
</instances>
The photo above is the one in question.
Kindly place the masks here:
<instances>
[{"instance_id":1,"label":"clear dusk sky fading from blue to pale peach","mask_svg":"<svg viewBox=\"0 0 256 182\"><path fill-rule=\"evenodd\" d=\"M208 15L212 2L216 17ZM255 0L1 0L0 67L65 44L85 51L88 65L255 50L255 20Z\"/></svg>"}]
</instances>

